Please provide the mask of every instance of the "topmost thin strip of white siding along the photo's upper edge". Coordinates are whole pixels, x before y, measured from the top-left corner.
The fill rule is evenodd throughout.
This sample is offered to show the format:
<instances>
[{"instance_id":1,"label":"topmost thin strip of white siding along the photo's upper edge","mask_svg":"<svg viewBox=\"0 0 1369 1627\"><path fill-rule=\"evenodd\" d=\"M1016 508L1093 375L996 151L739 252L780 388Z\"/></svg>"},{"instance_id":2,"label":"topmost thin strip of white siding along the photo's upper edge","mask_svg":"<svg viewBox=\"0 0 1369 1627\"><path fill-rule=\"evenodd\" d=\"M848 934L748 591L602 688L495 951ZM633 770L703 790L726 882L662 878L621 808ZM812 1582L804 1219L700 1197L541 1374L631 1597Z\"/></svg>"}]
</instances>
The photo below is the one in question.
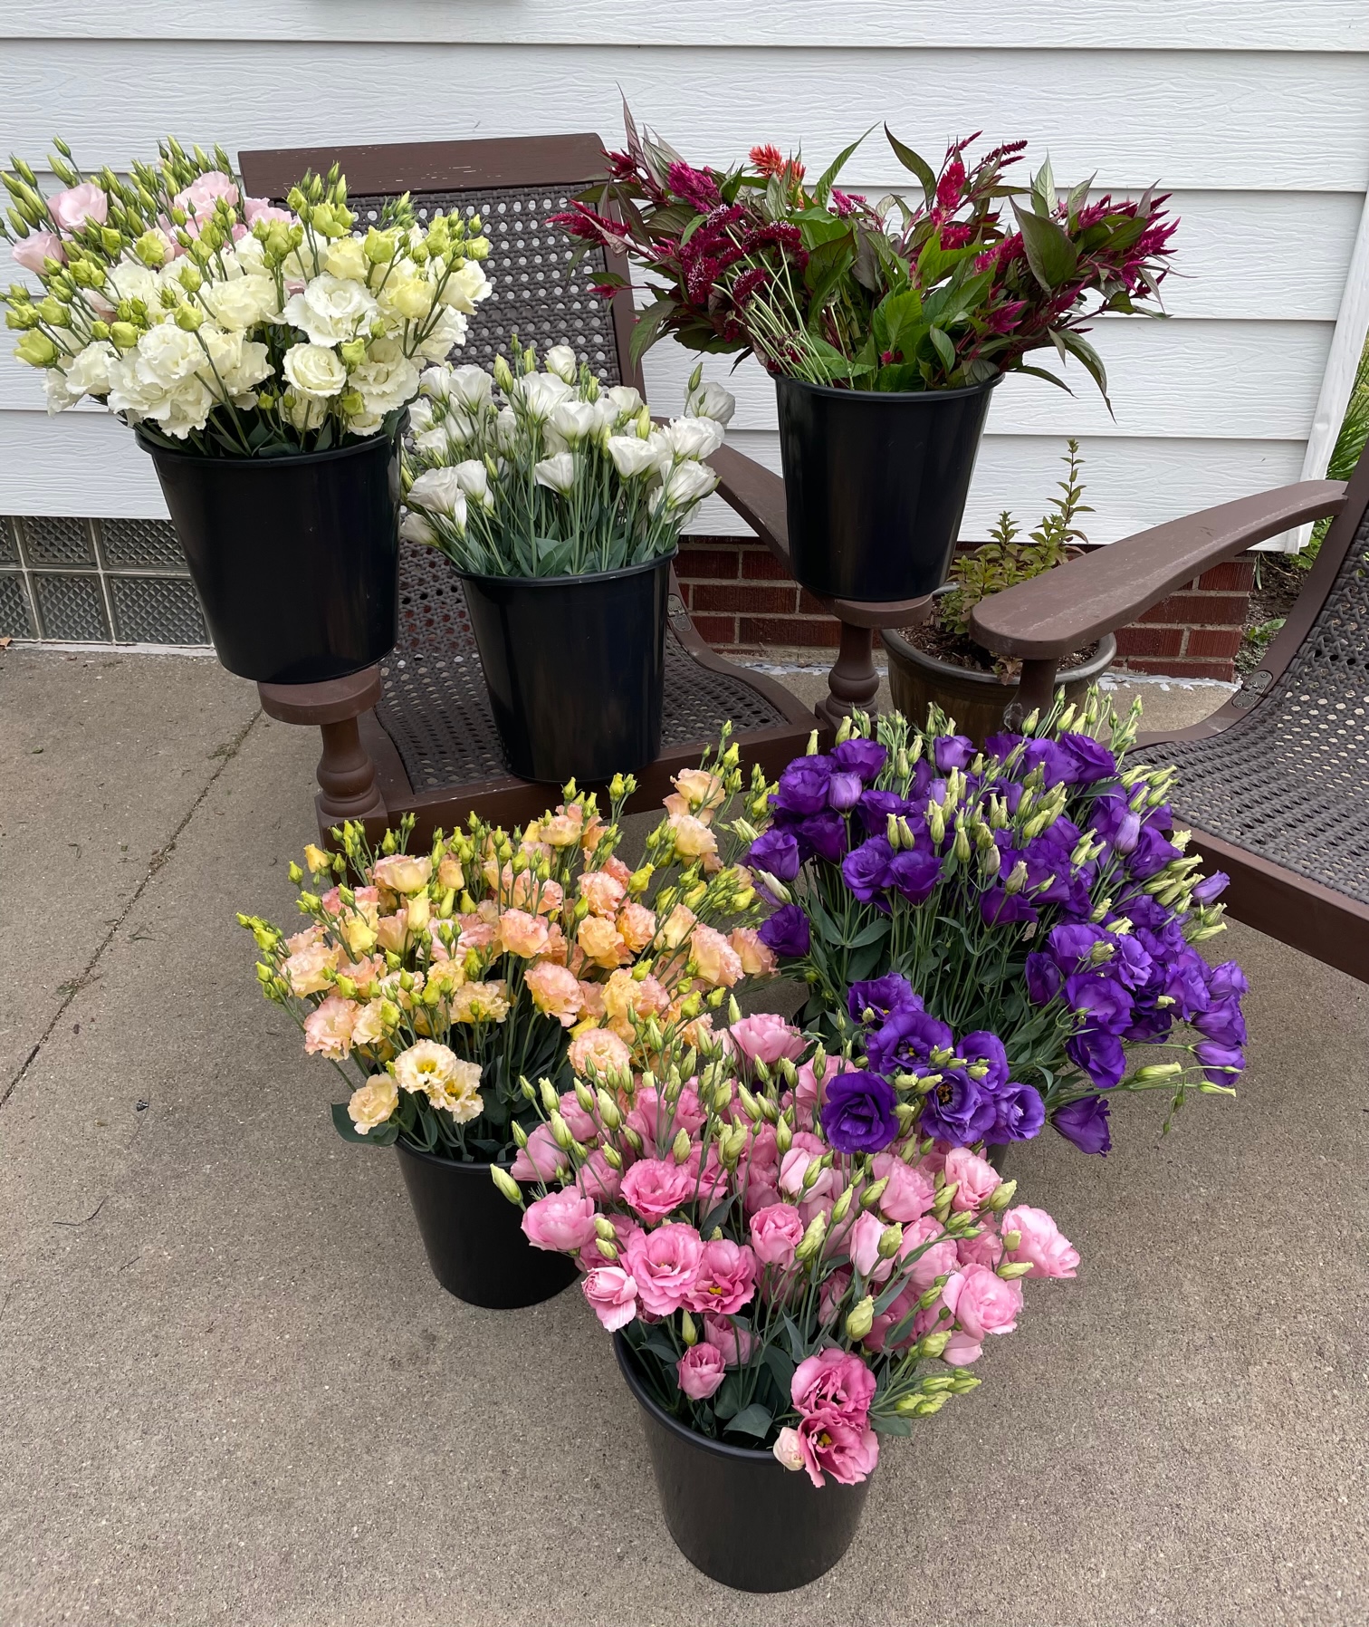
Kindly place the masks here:
<instances>
[{"instance_id":1,"label":"topmost thin strip of white siding along the photo's upper edge","mask_svg":"<svg viewBox=\"0 0 1369 1627\"><path fill-rule=\"evenodd\" d=\"M1154 0L1141 10L1099 0L1021 7L990 0L10 0L0 37L314 39L509 44L828 46L850 49L888 31L891 50L909 47L1205 50L1364 50L1369 18L1361 0L1281 7L1268 0Z\"/></svg>"}]
</instances>

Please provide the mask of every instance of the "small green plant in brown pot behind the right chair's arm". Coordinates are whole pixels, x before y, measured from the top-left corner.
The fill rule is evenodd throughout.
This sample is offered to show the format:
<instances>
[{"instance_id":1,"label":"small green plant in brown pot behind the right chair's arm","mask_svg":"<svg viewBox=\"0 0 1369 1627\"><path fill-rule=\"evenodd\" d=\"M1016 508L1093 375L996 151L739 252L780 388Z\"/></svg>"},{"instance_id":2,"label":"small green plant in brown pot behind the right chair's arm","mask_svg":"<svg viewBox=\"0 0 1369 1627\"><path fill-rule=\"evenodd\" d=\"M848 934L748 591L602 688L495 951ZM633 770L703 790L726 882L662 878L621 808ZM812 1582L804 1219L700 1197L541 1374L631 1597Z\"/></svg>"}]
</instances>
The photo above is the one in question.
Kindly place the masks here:
<instances>
[{"instance_id":1,"label":"small green plant in brown pot behind the right chair's arm","mask_svg":"<svg viewBox=\"0 0 1369 1627\"><path fill-rule=\"evenodd\" d=\"M937 594L930 617L901 631L880 636L889 656L889 690L894 708L907 718L925 718L928 706L940 706L974 740L984 740L1003 726L1003 709L1018 690L1021 662L1005 661L984 649L969 635L974 607L990 594L1063 565L1088 537L1078 526L1081 514L1093 514L1084 503L1080 478L1080 443L1068 441L1065 478L1057 483L1045 514L1026 540L1005 509L990 540L954 556L946 587ZM1091 683L1107 670L1117 654L1117 639L1107 633L1097 643L1060 662L1065 696L1083 703Z\"/></svg>"}]
</instances>

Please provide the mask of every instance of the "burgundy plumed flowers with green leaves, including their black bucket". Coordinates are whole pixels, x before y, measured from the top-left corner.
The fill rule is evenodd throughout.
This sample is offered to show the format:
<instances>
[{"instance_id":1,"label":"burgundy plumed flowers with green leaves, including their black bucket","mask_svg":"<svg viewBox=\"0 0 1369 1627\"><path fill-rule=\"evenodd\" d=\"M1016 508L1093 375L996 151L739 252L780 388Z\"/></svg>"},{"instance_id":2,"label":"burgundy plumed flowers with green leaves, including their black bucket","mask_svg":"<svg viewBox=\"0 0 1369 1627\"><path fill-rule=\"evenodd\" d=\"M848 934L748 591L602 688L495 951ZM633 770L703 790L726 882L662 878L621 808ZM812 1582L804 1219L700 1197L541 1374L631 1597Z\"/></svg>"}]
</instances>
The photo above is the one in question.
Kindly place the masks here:
<instances>
[{"instance_id":1,"label":"burgundy plumed flowers with green leaves, including their black bucket","mask_svg":"<svg viewBox=\"0 0 1369 1627\"><path fill-rule=\"evenodd\" d=\"M1005 373L1065 387L1028 361L1054 348L1106 394L1083 330L1106 311L1156 314L1177 225L1151 194L1057 190L1049 161L1013 185L1023 142L980 158L976 137L954 142L933 171L888 140L920 190L912 203L836 185L860 142L810 187L774 146L696 168L629 117L606 182L553 216L644 268L657 298L637 351L668 334L759 358L776 379L793 574L873 602L945 581Z\"/></svg>"}]
</instances>

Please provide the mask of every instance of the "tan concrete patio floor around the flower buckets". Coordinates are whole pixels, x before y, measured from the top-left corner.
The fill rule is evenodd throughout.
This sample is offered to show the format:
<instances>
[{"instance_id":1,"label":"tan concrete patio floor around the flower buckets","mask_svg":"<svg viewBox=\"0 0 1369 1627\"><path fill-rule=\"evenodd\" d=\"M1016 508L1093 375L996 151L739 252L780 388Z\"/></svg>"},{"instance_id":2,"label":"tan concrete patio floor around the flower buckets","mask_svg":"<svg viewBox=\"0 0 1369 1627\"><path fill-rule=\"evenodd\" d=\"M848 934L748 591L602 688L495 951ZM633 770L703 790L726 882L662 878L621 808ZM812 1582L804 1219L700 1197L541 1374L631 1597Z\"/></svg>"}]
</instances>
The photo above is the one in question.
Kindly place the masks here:
<instances>
[{"instance_id":1,"label":"tan concrete patio floor around the flower buckets","mask_svg":"<svg viewBox=\"0 0 1369 1627\"><path fill-rule=\"evenodd\" d=\"M1078 1282L886 1443L837 1570L732 1594L580 1297L445 1295L257 994L315 753L211 661L0 654L5 1627L1369 1619L1361 984L1234 927L1239 1100L1028 1147Z\"/></svg>"}]
</instances>

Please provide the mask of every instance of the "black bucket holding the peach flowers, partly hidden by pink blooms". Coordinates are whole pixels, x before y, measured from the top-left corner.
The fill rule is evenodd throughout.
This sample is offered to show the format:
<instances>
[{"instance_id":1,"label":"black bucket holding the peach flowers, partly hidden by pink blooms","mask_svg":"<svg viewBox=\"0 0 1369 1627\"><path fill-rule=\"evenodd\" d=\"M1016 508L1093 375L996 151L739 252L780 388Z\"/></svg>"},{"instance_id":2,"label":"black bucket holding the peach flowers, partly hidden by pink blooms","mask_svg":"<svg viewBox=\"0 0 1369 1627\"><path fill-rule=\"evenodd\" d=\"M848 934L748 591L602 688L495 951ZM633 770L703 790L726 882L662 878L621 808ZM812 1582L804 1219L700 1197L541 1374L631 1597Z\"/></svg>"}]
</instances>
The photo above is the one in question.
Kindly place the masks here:
<instances>
[{"instance_id":1,"label":"black bucket holding the peach flowers, partly hidden by pink blooms","mask_svg":"<svg viewBox=\"0 0 1369 1627\"><path fill-rule=\"evenodd\" d=\"M577 1276L566 1254L533 1248L522 1210L489 1178L488 1163L457 1163L395 1142L432 1276L467 1305L509 1311L540 1305Z\"/></svg>"}]
</instances>

